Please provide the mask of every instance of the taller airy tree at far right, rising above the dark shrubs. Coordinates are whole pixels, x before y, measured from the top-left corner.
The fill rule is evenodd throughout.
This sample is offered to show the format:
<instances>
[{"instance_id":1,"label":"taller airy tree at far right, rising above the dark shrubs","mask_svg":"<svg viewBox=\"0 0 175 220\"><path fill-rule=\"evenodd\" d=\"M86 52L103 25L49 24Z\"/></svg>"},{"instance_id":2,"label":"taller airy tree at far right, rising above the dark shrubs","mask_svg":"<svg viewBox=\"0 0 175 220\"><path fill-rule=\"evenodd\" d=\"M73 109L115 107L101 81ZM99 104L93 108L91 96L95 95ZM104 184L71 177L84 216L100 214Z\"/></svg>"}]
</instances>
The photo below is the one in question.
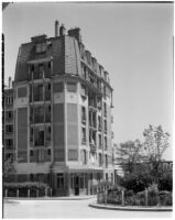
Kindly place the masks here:
<instances>
[{"instance_id":1,"label":"taller airy tree at far right, rising above the dark shrubs","mask_svg":"<svg viewBox=\"0 0 175 220\"><path fill-rule=\"evenodd\" d=\"M157 182L162 155L169 146L169 134L164 132L161 125L149 125L149 128L144 130L143 135L144 161L151 164L152 175L154 176L155 182Z\"/></svg>"}]
</instances>

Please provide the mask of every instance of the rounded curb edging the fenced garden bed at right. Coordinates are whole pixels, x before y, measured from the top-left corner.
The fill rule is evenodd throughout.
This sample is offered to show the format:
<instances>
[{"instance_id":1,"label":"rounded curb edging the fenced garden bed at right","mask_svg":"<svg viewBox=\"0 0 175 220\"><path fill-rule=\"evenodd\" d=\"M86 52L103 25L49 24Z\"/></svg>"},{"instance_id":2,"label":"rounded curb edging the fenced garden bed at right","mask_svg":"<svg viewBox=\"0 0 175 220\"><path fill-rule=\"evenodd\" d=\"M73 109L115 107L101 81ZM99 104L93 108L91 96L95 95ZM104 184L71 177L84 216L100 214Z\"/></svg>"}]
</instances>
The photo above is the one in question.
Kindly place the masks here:
<instances>
[{"instance_id":1,"label":"rounded curb edging the fenced garden bed at right","mask_svg":"<svg viewBox=\"0 0 175 220\"><path fill-rule=\"evenodd\" d=\"M173 211L173 207L122 207L111 205L89 204L89 207L96 209L120 210L120 211Z\"/></svg>"}]
</instances>

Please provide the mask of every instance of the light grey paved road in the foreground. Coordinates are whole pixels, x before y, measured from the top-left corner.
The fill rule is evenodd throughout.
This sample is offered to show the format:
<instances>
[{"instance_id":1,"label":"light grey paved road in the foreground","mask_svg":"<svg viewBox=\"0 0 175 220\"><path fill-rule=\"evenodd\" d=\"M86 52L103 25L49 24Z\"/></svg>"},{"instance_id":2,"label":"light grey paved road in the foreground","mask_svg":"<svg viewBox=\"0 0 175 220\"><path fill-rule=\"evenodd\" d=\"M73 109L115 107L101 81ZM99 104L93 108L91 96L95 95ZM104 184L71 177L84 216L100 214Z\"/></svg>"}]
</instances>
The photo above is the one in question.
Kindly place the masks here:
<instances>
[{"instance_id":1,"label":"light grey paved road in the foreground","mask_svg":"<svg viewBox=\"0 0 175 220\"><path fill-rule=\"evenodd\" d=\"M172 212L101 210L88 207L87 200L8 200L3 218L171 218Z\"/></svg>"}]
</instances>

